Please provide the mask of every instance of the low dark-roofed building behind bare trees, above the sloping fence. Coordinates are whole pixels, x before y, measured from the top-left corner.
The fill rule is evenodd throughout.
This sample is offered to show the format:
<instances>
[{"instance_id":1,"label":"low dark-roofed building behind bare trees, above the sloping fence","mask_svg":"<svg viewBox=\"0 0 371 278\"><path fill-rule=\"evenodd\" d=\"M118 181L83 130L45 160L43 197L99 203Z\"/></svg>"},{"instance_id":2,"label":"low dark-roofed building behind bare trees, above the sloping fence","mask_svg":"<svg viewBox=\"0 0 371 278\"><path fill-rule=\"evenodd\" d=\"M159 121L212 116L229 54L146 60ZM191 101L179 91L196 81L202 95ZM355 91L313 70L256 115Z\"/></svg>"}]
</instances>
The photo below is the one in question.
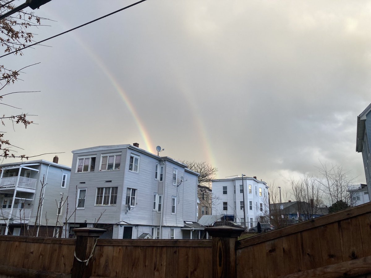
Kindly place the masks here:
<instances>
[{"instance_id":1,"label":"low dark-roofed building behind bare trees, above the sloping fence","mask_svg":"<svg viewBox=\"0 0 371 278\"><path fill-rule=\"evenodd\" d=\"M280 209L281 205L281 209ZM319 208L307 202L288 201L285 203L271 203L270 213L283 215L283 218L299 219L305 221L328 214L329 208ZM282 216L281 216L282 217Z\"/></svg>"}]
</instances>

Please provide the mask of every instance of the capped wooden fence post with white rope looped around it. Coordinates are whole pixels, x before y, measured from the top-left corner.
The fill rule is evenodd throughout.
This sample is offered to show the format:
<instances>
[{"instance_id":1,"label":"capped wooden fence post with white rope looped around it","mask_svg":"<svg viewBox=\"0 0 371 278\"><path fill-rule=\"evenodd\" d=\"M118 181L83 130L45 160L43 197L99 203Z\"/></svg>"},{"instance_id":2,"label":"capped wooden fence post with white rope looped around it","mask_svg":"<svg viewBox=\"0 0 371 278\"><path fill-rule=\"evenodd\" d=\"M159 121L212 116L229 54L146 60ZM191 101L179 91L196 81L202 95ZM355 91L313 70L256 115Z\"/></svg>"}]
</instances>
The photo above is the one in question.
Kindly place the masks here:
<instances>
[{"instance_id":1,"label":"capped wooden fence post with white rope looped around it","mask_svg":"<svg viewBox=\"0 0 371 278\"><path fill-rule=\"evenodd\" d=\"M76 235L75 256L71 278L88 278L92 275L94 249L100 235L106 231L98 228L73 229Z\"/></svg>"}]
</instances>

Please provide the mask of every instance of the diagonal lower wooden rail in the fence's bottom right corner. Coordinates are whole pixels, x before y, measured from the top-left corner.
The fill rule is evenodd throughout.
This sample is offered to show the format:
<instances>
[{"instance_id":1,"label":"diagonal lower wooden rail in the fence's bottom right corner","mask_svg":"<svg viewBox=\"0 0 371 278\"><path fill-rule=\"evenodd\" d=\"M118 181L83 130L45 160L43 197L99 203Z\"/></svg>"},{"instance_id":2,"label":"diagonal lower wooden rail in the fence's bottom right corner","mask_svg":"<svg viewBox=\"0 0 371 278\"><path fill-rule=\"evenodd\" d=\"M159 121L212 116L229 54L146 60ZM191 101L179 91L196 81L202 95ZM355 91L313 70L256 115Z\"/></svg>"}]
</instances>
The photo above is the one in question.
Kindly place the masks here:
<instances>
[{"instance_id":1,"label":"diagonal lower wooden rail in the fence's bottom right corner","mask_svg":"<svg viewBox=\"0 0 371 278\"><path fill-rule=\"evenodd\" d=\"M289 275L280 276L281 278L335 278L335 277L354 277L371 273L371 256L354 259L352 261L341 262L339 264L327 265L316 269L296 272Z\"/></svg>"}]
</instances>

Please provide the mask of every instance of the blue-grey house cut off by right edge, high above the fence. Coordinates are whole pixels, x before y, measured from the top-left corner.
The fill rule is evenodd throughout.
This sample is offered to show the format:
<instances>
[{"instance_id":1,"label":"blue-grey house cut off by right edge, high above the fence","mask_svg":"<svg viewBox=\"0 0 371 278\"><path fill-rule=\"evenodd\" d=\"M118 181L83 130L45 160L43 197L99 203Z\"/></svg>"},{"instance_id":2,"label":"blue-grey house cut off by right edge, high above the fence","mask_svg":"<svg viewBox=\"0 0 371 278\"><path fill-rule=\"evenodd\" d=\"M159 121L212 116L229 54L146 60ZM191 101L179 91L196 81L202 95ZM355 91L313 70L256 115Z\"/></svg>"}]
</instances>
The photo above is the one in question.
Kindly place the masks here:
<instances>
[{"instance_id":1,"label":"blue-grey house cut off by right edge, high above the fence","mask_svg":"<svg viewBox=\"0 0 371 278\"><path fill-rule=\"evenodd\" d=\"M357 117L357 142L355 150L362 153L366 183L371 184L371 104ZM371 196L370 186L368 196Z\"/></svg>"}]
</instances>

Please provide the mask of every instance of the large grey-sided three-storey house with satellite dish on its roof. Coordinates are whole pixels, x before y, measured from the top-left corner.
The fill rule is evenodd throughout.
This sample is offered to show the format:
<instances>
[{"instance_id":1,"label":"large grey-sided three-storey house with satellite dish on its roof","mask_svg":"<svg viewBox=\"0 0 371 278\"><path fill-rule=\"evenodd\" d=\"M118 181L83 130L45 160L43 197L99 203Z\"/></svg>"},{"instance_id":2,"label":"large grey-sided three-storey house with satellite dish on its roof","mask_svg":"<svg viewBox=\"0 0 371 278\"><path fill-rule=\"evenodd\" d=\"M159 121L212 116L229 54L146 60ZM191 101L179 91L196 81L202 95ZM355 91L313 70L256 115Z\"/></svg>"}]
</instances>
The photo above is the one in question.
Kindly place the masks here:
<instances>
[{"instance_id":1,"label":"large grey-sided three-storey house with satellite dish on its roof","mask_svg":"<svg viewBox=\"0 0 371 278\"><path fill-rule=\"evenodd\" d=\"M73 228L104 228L105 238L198 238L198 173L139 144L73 150L67 215ZM74 209L76 208L76 209ZM194 225L197 225L195 227Z\"/></svg>"}]
</instances>

